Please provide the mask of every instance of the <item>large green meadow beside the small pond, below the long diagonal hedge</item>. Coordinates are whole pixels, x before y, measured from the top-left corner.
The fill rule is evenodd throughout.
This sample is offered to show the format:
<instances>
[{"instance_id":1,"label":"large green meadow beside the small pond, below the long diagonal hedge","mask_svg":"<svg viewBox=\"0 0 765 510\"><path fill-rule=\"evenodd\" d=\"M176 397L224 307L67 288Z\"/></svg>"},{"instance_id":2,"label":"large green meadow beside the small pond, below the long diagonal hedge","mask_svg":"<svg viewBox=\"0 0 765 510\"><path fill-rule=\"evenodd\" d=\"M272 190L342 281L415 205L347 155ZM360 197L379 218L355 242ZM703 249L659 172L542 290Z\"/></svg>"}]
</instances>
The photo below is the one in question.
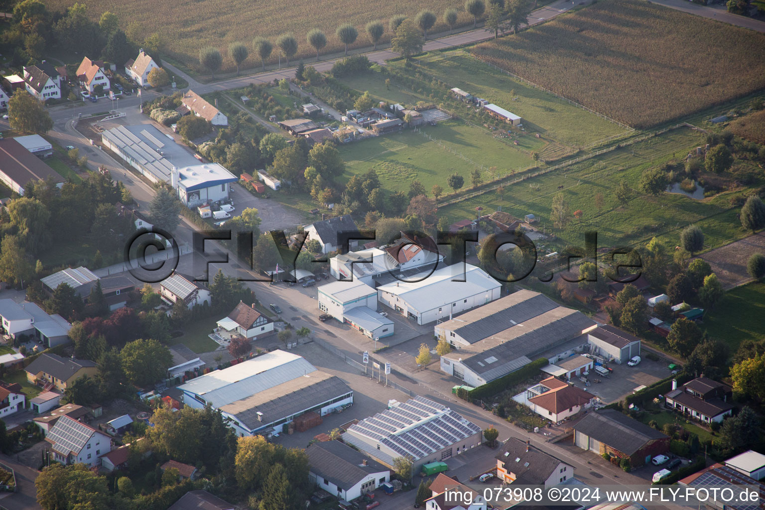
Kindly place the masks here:
<instances>
[{"instance_id":1,"label":"large green meadow beside the small pond, below the long diagonal hedge","mask_svg":"<svg viewBox=\"0 0 765 510\"><path fill-rule=\"evenodd\" d=\"M541 218L541 229L558 237L557 242L549 243L556 247L569 243L581 245L584 232L588 231L597 232L600 246L633 245L653 236L674 246L678 242L679 229L696 223L705 233L705 244L715 247L743 233L741 223L736 219L737 210L731 208L733 193L693 200L680 194L662 193L653 197L639 191L643 170L673 158L682 158L689 148L701 141L702 136L690 129L675 129L566 169L513 184L506 187L503 197L491 191L442 207L438 213L448 216L451 222L475 216L477 206L483 206L484 213L501 207L518 218L533 213ZM621 180L627 181L633 190L626 206L614 196ZM534 189L536 187L538 189ZM571 218L571 223L564 229L552 229L549 219L555 193L563 193L571 213L582 211L581 219ZM597 208L598 194L603 198L602 210Z\"/></svg>"}]
</instances>

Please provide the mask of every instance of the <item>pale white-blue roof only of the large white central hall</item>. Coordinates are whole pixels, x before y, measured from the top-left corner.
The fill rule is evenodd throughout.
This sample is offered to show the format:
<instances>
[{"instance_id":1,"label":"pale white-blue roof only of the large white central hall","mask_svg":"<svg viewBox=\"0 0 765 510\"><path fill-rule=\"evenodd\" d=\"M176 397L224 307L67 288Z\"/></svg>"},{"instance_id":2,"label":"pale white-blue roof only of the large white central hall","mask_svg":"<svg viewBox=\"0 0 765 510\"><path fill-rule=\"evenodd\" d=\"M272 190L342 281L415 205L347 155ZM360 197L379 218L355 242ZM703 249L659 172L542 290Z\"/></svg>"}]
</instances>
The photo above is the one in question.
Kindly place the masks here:
<instances>
[{"instance_id":1,"label":"pale white-blue roof only of the large white central hall","mask_svg":"<svg viewBox=\"0 0 765 510\"><path fill-rule=\"evenodd\" d=\"M464 281L460 264L422 271L410 281L394 281L377 287L378 291L396 294L420 312L500 287L500 282L477 266L464 265Z\"/></svg>"}]
</instances>

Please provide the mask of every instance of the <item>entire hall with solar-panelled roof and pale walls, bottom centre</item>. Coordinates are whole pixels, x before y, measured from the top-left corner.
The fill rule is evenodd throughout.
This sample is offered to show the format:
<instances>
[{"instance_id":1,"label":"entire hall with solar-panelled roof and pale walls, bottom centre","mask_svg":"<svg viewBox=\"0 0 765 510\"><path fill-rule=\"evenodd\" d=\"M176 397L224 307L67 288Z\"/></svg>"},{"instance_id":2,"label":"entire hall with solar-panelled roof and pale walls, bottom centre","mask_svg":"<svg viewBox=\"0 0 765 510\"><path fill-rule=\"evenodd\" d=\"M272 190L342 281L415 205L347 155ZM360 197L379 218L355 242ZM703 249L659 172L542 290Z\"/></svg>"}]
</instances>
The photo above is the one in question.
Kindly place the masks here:
<instances>
[{"instance_id":1,"label":"entire hall with solar-panelled roof and pale walls, bottom centre","mask_svg":"<svg viewBox=\"0 0 765 510\"><path fill-rule=\"evenodd\" d=\"M412 458L412 473L480 446L476 424L443 404L416 396L389 401L388 409L351 425L343 440L386 466L399 456Z\"/></svg>"}]
</instances>

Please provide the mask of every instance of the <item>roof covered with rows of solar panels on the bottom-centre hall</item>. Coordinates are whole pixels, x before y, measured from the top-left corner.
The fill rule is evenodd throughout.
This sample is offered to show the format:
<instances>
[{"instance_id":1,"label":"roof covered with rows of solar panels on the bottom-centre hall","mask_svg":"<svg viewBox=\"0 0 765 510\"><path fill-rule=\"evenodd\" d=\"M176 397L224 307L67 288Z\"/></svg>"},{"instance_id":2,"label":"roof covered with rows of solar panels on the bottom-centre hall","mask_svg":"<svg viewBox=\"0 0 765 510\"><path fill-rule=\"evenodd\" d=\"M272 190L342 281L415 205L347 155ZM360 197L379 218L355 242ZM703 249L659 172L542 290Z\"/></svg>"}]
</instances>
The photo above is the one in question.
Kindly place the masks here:
<instances>
[{"instance_id":1,"label":"roof covered with rows of solar panels on the bottom-centre hall","mask_svg":"<svg viewBox=\"0 0 765 510\"><path fill-rule=\"evenodd\" d=\"M399 455L418 460L477 434L480 427L441 404L417 396L366 418L349 430L379 441Z\"/></svg>"}]
</instances>

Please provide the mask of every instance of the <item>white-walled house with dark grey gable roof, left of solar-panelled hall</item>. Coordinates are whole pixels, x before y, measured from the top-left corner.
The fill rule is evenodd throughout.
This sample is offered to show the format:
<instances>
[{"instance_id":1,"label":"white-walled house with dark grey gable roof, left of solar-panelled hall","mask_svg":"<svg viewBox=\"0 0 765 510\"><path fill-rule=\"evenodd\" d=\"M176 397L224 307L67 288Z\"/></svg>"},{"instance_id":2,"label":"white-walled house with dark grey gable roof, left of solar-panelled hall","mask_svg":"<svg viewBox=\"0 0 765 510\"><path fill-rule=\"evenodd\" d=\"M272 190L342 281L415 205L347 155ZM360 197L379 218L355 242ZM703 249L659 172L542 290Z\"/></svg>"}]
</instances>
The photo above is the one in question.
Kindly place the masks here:
<instances>
[{"instance_id":1,"label":"white-walled house with dark grey gable roof, left of solar-panelled hall","mask_svg":"<svg viewBox=\"0 0 765 510\"><path fill-rule=\"evenodd\" d=\"M356 499L390 479L389 468L340 441L311 444L305 453L317 486L340 499Z\"/></svg>"}]
</instances>

